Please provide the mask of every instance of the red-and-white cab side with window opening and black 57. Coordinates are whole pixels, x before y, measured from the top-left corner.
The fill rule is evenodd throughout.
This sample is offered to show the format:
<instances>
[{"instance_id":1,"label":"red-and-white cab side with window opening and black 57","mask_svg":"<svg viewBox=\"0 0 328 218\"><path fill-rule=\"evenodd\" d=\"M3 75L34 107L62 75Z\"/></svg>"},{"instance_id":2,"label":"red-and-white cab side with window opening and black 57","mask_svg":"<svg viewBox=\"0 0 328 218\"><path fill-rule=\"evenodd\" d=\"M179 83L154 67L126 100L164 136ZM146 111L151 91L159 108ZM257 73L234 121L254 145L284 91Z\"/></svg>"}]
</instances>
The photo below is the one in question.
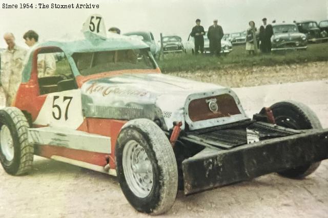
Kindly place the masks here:
<instances>
[{"instance_id":1,"label":"red-and-white cab side with window opening and black 57","mask_svg":"<svg viewBox=\"0 0 328 218\"><path fill-rule=\"evenodd\" d=\"M31 114L33 126L77 129L84 120L81 93L64 52L53 47L35 52L31 78L17 93L17 107Z\"/></svg>"}]
</instances>

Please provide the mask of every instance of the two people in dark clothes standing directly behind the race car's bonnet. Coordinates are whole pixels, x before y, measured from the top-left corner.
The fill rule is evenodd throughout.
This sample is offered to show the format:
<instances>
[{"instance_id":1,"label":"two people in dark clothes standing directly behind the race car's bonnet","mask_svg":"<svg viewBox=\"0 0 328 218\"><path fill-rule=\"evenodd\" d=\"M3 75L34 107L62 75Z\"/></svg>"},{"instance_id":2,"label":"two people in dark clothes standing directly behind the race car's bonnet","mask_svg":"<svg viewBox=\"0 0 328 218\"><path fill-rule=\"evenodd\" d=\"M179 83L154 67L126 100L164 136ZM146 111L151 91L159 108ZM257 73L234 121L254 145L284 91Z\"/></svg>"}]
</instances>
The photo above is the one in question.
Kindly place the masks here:
<instances>
[{"instance_id":1,"label":"two people in dark clothes standing directly behind the race car's bonnet","mask_svg":"<svg viewBox=\"0 0 328 218\"><path fill-rule=\"evenodd\" d=\"M204 31L203 26L200 25L200 19L196 19L196 26L191 30L191 36L194 37L195 42L195 54L199 52L204 53ZM218 25L218 20L214 19L213 25L209 27L207 31L207 37L210 41L210 52L212 55L219 56L221 52L221 39L223 37L223 30Z\"/></svg>"}]
</instances>

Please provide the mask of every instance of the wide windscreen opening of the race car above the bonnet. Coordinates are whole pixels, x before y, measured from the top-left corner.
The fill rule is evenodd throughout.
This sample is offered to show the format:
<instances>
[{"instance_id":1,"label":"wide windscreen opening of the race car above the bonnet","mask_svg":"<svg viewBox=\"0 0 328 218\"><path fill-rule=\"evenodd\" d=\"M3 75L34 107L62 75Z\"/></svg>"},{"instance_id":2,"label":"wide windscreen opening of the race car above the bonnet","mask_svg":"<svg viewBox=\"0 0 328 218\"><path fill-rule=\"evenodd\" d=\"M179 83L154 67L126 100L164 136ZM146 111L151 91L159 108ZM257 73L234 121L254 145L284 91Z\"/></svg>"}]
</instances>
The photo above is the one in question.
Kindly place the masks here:
<instances>
[{"instance_id":1,"label":"wide windscreen opening of the race car above the bonnet","mask_svg":"<svg viewBox=\"0 0 328 218\"><path fill-rule=\"evenodd\" d=\"M72 57L81 75L116 70L155 69L148 49L74 53Z\"/></svg>"}]
</instances>

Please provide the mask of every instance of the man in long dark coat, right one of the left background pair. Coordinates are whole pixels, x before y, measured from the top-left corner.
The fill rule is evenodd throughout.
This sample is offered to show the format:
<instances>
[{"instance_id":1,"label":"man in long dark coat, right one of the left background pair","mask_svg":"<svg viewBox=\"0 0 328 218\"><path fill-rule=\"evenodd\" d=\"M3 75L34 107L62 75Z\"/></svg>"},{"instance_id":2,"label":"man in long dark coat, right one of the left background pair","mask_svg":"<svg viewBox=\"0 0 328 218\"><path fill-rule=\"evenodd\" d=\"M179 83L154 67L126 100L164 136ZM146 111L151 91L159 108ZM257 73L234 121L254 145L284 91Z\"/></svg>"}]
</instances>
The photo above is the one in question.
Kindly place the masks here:
<instances>
[{"instance_id":1,"label":"man in long dark coat, right one of the left background pair","mask_svg":"<svg viewBox=\"0 0 328 218\"><path fill-rule=\"evenodd\" d=\"M213 21L213 25L209 27L207 37L210 41L210 51L212 55L220 55L221 52L221 39L223 37L222 27L217 25L217 19Z\"/></svg>"}]
</instances>

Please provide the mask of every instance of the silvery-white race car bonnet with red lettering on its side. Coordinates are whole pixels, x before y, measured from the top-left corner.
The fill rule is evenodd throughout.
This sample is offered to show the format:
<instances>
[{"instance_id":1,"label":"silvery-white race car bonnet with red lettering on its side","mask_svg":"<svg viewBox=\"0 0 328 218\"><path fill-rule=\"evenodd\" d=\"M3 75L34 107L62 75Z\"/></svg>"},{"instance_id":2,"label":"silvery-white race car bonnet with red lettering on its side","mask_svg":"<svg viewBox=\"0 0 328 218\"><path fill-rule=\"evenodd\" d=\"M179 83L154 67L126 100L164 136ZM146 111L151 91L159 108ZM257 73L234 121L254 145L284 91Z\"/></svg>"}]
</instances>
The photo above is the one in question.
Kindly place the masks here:
<instances>
[{"instance_id":1,"label":"silvery-white race car bonnet with red lettering on its side","mask_svg":"<svg viewBox=\"0 0 328 218\"><path fill-rule=\"evenodd\" d=\"M238 97L231 89L161 73L131 73L98 78L86 82L81 87L86 117L155 120L158 114L163 114L159 117L164 117L165 129L170 129L173 121L184 121L184 108L188 105L188 100L191 101L198 96L211 97L219 94L233 96L241 111L237 120L236 117L231 117L231 120L227 118L224 122L236 122L239 118L246 117ZM165 114L170 116L166 117ZM196 128L196 125L194 126Z\"/></svg>"}]
</instances>

